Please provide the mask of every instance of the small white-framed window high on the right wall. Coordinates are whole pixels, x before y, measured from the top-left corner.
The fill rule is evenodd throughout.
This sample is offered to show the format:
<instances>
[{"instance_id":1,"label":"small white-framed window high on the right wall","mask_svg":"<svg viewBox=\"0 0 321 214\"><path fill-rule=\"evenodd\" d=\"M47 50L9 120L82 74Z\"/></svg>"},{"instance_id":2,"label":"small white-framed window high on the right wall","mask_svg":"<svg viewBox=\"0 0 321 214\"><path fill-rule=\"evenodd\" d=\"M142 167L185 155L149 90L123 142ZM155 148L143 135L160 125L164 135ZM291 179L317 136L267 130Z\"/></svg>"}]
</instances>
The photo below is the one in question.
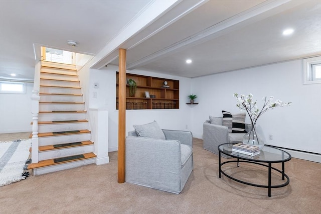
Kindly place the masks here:
<instances>
[{"instance_id":1,"label":"small white-framed window high on the right wall","mask_svg":"<svg viewBox=\"0 0 321 214\"><path fill-rule=\"evenodd\" d=\"M321 83L321 56L303 59L303 84Z\"/></svg>"}]
</instances>

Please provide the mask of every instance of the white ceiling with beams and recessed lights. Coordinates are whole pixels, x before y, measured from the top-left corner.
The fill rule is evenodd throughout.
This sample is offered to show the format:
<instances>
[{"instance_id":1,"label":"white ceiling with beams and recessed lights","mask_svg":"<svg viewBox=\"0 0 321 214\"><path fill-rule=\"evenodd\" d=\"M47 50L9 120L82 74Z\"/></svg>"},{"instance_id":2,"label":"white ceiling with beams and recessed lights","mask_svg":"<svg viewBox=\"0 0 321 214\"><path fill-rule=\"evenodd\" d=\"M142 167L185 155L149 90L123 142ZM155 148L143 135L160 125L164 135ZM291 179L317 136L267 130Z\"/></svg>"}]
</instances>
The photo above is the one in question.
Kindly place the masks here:
<instances>
[{"instance_id":1,"label":"white ceiling with beams and recessed lights","mask_svg":"<svg viewBox=\"0 0 321 214\"><path fill-rule=\"evenodd\" d=\"M34 45L96 55L98 69L125 48L129 70L197 77L321 55L321 1L0 0L0 45L0 79L33 79Z\"/></svg>"}]
</instances>

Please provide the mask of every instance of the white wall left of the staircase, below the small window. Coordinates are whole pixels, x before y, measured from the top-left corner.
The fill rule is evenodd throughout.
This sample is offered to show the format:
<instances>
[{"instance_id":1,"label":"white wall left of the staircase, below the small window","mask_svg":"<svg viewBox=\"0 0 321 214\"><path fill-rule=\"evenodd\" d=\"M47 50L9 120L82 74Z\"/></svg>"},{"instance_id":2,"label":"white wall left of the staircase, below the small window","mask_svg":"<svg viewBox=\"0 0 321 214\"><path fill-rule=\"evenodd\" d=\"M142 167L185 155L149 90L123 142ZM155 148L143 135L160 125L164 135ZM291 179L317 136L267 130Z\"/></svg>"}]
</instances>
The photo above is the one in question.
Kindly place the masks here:
<instances>
[{"instance_id":1,"label":"white wall left of the staircase, below the small window","mask_svg":"<svg viewBox=\"0 0 321 214\"><path fill-rule=\"evenodd\" d=\"M26 93L0 93L0 133L32 132L31 96L33 83Z\"/></svg>"}]
</instances>

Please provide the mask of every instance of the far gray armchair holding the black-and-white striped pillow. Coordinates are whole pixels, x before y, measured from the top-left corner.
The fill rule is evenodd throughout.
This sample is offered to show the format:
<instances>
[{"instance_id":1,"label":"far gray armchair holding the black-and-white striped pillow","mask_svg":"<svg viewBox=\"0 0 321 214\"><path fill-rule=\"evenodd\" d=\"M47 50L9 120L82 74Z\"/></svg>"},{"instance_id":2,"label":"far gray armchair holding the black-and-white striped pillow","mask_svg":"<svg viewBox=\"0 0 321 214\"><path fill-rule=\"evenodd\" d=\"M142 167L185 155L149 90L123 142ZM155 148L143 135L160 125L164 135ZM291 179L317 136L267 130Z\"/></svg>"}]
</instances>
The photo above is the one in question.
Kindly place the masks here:
<instances>
[{"instance_id":1,"label":"far gray armchair holding the black-and-white striped pillow","mask_svg":"<svg viewBox=\"0 0 321 214\"><path fill-rule=\"evenodd\" d=\"M245 130L251 129L250 124L245 124ZM222 117L216 118L215 124L206 120L203 124L203 148L219 154L218 146L223 143L242 143L245 133L229 133L226 126L222 126ZM231 148L232 149L232 148ZM222 157L228 157L222 154Z\"/></svg>"}]
</instances>

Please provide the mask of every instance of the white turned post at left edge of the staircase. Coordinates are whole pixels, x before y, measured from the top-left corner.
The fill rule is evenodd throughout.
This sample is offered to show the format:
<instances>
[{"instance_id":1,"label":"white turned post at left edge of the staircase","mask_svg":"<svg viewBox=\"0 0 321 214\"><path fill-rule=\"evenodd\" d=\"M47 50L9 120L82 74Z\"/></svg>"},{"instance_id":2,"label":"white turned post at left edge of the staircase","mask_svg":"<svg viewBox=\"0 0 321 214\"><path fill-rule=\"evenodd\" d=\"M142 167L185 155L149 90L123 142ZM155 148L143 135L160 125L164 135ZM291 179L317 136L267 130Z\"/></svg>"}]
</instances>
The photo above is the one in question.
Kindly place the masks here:
<instances>
[{"instance_id":1,"label":"white turned post at left edge of the staircase","mask_svg":"<svg viewBox=\"0 0 321 214\"><path fill-rule=\"evenodd\" d=\"M31 160L32 163L39 162L39 137L38 137L38 116L39 116L39 91L40 91L40 69L41 61L36 61L34 88L31 97L31 114L32 114L32 145Z\"/></svg>"}]
</instances>

